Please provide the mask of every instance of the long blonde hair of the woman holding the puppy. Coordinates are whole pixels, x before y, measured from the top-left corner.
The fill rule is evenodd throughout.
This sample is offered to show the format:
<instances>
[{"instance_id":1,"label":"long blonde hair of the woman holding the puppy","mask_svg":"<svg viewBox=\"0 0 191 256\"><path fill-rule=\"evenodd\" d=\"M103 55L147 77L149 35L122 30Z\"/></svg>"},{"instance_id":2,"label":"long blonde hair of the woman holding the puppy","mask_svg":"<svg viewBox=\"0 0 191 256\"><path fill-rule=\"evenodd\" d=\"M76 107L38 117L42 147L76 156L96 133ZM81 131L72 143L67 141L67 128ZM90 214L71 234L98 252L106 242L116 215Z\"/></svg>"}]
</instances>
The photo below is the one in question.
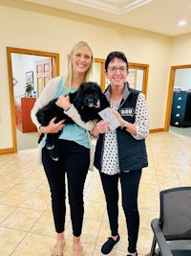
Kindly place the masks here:
<instances>
[{"instance_id":1,"label":"long blonde hair of the woman holding the puppy","mask_svg":"<svg viewBox=\"0 0 191 256\"><path fill-rule=\"evenodd\" d=\"M72 83L72 57L74 55L74 52L81 46L87 46L88 49L90 50L92 57L91 57L91 63L90 63L90 67L87 70L86 74L85 74L85 81L90 81L91 79L91 74L93 72L93 51L91 49L91 47L88 45L87 42L85 41L78 41L74 44L74 47L71 49L69 57L68 57L68 62L67 62L67 69L66 69L66 74L65 74L65 90L68 93L70 91L71 88L71 83Z\"/></svg>"}]
</instances>

